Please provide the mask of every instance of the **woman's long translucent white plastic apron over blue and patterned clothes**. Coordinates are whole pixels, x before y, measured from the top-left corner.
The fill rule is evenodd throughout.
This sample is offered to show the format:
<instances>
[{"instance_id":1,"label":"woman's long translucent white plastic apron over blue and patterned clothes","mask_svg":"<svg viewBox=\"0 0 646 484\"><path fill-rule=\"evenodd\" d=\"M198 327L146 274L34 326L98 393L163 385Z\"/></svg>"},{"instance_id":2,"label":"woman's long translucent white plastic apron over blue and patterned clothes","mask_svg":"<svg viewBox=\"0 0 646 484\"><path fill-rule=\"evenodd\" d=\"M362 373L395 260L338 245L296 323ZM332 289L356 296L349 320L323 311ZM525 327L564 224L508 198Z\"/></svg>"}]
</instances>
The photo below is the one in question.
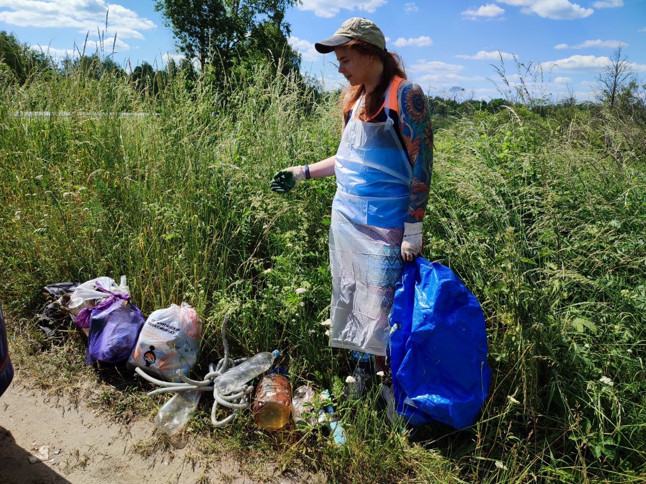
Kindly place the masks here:
<instances>
[{"instance_id":1,"label":"woman's long translucent white plastic apron over blue and patterned clothes","mask_svg":"<svg viewBox=\"0 0 646 484\"><path fill-rule=\"evenodd\" d=\"M404 265L401 243L412 176L388 116L397 110L401 81L395 77L386 90L383 123L357 117L363 96L353 106L335 157L337 194L329 229L329 343L379 356L386 354L388 314Z\"/></svg>"}]
</instances>

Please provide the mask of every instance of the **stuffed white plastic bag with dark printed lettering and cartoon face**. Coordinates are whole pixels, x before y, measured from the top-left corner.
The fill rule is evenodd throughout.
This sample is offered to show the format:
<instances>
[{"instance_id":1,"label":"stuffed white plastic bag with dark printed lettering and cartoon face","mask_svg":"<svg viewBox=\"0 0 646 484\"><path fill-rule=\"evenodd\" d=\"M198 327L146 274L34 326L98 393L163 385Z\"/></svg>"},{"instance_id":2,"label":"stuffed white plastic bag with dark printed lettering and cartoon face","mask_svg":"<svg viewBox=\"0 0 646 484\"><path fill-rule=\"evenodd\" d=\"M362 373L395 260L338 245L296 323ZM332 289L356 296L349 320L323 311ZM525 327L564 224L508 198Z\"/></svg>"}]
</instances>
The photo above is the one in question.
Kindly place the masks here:
<instances>
[{"instance_id":1,"label":"stuffed white plastic bag with dark printed lettering and cartoon face","mask_svg":"<svg viewBox=\"0 0 646 484\"><path fill-rule=\"evenodd\" d=\"M202 321L187 303L158 309L141 328L129 365L161 378L181 381L176 371L188 375L200 349Z\"/></svg>"}]
</instances>

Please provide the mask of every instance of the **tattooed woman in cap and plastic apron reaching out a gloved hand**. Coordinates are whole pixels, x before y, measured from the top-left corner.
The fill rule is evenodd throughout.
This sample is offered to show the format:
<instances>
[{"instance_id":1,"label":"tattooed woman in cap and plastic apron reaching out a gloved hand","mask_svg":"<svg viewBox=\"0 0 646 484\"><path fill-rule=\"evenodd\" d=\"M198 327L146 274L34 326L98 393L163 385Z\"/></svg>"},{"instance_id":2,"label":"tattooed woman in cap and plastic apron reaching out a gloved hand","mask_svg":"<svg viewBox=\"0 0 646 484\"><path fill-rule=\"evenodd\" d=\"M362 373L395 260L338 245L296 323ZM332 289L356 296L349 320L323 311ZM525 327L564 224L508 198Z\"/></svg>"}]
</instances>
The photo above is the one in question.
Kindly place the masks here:
<instances>
[{"instance_id":1,"label":"tattooed woman in cap and plastic apron reaching out a gloved hand","mask_svg":"<svg viewBox=\"0 0 646 484\"><path fill-rule=\"evenodd\" d=\"M433 164L430 112L373 22L348 19L315 48L335 52L350 85L339 150L313 165L281 170L271 189L286 193L304 179L337 176L329 229L330 345L384 356L395 282L404 261L422 251Z\"/></svg>"}]
</instances>

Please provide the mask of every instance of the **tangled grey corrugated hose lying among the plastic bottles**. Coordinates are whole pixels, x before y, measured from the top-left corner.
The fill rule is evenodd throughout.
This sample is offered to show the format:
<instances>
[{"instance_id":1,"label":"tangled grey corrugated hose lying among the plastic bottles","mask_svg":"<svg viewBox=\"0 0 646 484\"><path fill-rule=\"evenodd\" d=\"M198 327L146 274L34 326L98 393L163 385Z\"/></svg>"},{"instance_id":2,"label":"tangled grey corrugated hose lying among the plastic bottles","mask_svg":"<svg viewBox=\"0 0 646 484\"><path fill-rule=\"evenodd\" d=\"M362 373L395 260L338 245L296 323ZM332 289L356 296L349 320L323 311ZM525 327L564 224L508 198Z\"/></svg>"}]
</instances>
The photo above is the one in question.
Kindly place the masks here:
<instances>
[{"instance_id":1,"label":"tangled grey corrugated hose lying among the plastic bottles","mask_svg":"<svg viewBox=\"0 0 646 484\"><path fill-rule=\"evenodd\" d=\"M226 327L229 323L229 316L225 316L224 322L222 323L222 344L224 345L224 358L218 361L218 364L213 367L213 363L209 363L209 372L204 376L202 381L193 380L188 378L183 374L182 370L177 370L177 375L180 377L183 383L173 382L173 381L163 381L157 378L153 378L141 368L135 368L134 370L141 376L141 378L159 385L161 388L152 390L148 395L157 395L160 393L169 393L169 392L210 392L213 390L213 408L211 408L211 422L214 427L220 427L221 425L226 425L231 422L236 415L240 413L240 410L249 407L251 405L251 394L253 390L253 385L244 385L242 388L236 388L230 394L223 395L220 393L217 387L213 385L214 379L223 374L225 371L233 368L236 365L239 365L247 358L238 358L231 359L229 358L229 343L227 342ZM216 415L218 413L218 405L222 407L231 408L233 414L225 417L222 420L218 420Z\"/></svg>"}]
</instances>

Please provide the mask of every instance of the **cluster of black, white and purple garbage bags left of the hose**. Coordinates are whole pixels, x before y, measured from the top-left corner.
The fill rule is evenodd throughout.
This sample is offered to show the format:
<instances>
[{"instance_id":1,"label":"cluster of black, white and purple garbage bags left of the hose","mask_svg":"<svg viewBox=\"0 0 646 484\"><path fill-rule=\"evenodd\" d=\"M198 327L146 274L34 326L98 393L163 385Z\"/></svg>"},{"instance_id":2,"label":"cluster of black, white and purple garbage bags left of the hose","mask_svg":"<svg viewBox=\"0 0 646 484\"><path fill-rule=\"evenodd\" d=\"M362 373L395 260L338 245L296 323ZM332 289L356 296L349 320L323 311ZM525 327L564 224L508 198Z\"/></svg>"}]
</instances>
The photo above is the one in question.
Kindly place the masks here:
<instances>
[{"instance_id":1,"label":"cluster of black, white and purple garbage bags left of the hose","mask_svg":"<svg viewBox=\"0 0 646 484\"><path fill-rule=\"evenodd\" d=\"M173 304L145 319L132 303L126 276L119 284L105 276L82 284L51 284L45 294L40 327L57 338L71 318L87 338L88 365L127 362L130 368L177 381L176 370L188 374L197 360L202 321L193 307Z\"/></svg>"}]
</instances>

